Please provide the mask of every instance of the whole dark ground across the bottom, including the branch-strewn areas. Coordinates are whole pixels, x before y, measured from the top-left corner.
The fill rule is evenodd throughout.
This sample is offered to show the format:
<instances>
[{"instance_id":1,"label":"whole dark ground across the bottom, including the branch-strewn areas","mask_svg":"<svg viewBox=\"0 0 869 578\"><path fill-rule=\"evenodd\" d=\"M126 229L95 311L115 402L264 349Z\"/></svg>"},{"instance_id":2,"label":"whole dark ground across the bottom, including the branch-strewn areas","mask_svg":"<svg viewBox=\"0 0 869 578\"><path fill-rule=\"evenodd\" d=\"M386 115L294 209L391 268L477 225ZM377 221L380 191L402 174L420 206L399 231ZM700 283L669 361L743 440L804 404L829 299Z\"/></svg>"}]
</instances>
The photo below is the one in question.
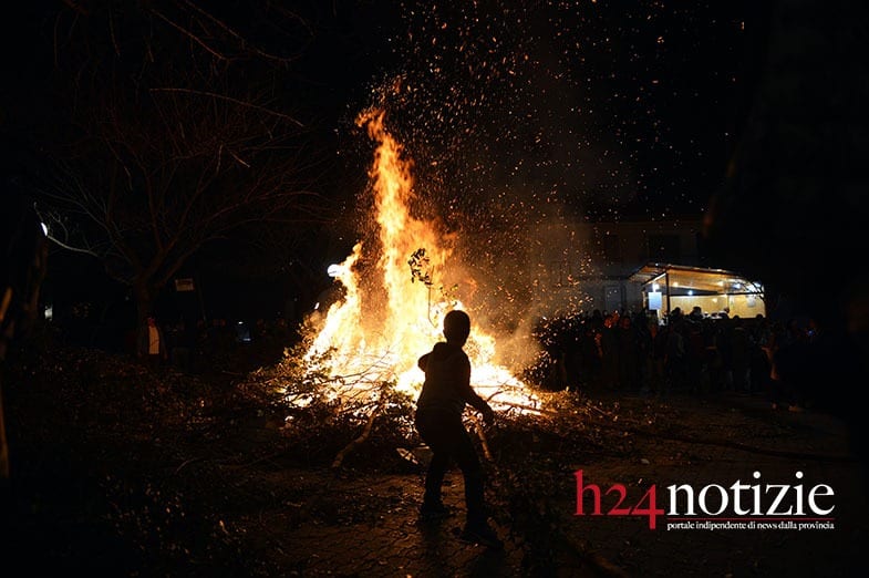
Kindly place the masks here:
<instances>
[{"instance_id":1,"label":"whole dark ground across the bottom, including the branch-strewn areas","mask_svg":"<svg viewBox=\"0 0 869 578\"><path fill-rule=\"evenodd\" d=\"M375 422L334 467L364 423L323 414L289 427L251 388L268 381L251 378L261 361L187 375L89 350L12 360L3 373L12 460L4 566L46 576L402 577L861 568L865 461L846 424L820 411L773 411L763 396L724 392L541 392L539 415L504 413L478 438L493 525L505 540L494 551L455 536L458 472L445 493L456 515L417 520L427 454L412 433L399 434L406 415ZM600 515L593 491L577 515L579 471L583 487L601 488ZM801 484L804 509L813 487L829 486L834 495L817 500L834 509L801 516L801 529L788 529L790 515L754 516L754 528L738 528L722 526L723 516L670 512L668 486L714 486L714 496L758 477L792 486L794 500ZM613 510L622 487L625 508ZM653 517L643 514L651 488L662 510ZM758 519L768 524L758 528Z\"/></svg>"}]
</instances>

